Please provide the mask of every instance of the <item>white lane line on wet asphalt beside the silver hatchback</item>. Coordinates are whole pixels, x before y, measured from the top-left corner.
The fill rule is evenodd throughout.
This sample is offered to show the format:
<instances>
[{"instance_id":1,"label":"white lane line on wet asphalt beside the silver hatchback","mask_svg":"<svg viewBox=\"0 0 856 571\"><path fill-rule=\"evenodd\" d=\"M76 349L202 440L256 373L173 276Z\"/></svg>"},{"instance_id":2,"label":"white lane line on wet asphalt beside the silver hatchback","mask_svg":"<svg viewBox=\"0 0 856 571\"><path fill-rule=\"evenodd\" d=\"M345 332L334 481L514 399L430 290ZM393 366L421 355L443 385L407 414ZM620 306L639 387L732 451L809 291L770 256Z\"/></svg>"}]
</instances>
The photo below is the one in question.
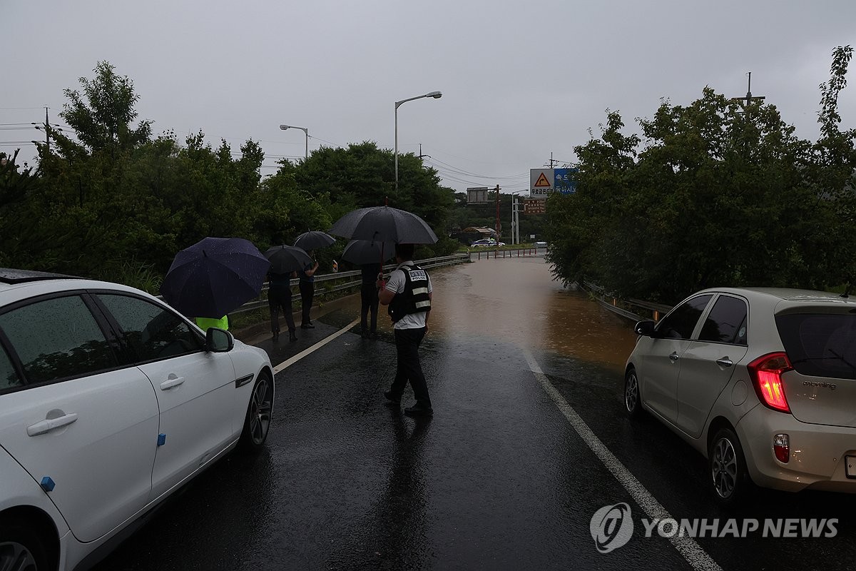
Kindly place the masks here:
<instances>
[{"instance_id":1,"label":"white lane line on wet asphalt beside the silver hatchback","mask_svg":"<svg viewBox=\"0 0 856 571\"><path fill-rule=\"evenodd\" d=\"M541 367L538 366L538 361L535 360L535 357L532 356L532 353L524 348L523 354L526 356L526 361L529 363L529 369L532 371L532 374L535 375L535 378L538 378L538 383L541 384L541 388L544 389L550 398L556 402L556 406L559 407L559 410L562 411L562 414L565 415L565 418L568 419L568 422L574 427L574 430L577 431L577 434L580 435L580 438L583 439L592 452L603 462L603 465L607 467L609 472L615 476L615 479L624 486L624 489L633 497L633 500L639 504L639 507L645 510L645 514L648 514L648 517L651 519L660 519L664 520L666 518L674 519L657 502L657 499L651 495L650 491L645 490L645 486L624 467L624 464L621 463L615 455L609 451L609 449L600 441L600 438L595 436L595 433L591 431L591 428L586 425L586 421L583 420L580 415L574 410L571 405L568 404L568 401L562 397L562 394L556 390L556 387L550 383L550 379L544 374L541 370ZM675 546L675 549L678 550L678 553L687 560L687 562L693 566L694 569L701 569L704 571L722 571L722 568L707 554L704 549L702 549L701 545L696 542L693 538L687 537L679 537L678 534L669 538L669 541L672 542L672 545Z\"/></svg>"}]
</instances>

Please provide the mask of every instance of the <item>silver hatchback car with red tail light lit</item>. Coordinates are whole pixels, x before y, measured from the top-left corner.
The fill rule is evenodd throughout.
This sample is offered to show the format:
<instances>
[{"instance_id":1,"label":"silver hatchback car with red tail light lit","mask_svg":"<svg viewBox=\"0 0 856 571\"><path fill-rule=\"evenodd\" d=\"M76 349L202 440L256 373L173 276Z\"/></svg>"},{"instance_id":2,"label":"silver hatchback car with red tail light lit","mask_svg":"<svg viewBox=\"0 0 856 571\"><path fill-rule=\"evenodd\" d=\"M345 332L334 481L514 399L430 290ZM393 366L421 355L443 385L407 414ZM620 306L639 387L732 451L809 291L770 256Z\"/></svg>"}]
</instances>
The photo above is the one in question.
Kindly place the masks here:
<instances>
[{"instance_id":1,"label":"silver hatchback car with red tail light lit","mask_svg":"<svg viewBox=\"0 0 856 571\"><path fill-rule=\"evenodd\" d=\"M856 297L704 289L635 330L627 413L705 455L722 503L753 483L856 492Z\"/></svg>"}]
</instances>

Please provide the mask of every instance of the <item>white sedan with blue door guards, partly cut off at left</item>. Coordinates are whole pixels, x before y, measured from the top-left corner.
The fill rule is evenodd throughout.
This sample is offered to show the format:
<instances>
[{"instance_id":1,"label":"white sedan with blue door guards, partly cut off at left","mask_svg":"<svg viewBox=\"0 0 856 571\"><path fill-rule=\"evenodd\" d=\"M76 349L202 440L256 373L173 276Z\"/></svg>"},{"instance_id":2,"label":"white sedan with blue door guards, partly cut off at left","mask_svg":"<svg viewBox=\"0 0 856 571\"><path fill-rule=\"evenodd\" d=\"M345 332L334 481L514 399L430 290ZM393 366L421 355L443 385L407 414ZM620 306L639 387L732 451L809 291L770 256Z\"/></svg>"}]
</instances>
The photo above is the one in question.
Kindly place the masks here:
<instances>
[{"instance_id":1,"label":"white sedan with blue door guards, partly cut off at left","mask_svg":"<svg viewBox=\"0 0 856 571\"><path fill-rule=\"evenodd\" d=\"M87 568L241 444L267 354L116 283L0 269L0 569Z\"/></svg>"}]
</instances>

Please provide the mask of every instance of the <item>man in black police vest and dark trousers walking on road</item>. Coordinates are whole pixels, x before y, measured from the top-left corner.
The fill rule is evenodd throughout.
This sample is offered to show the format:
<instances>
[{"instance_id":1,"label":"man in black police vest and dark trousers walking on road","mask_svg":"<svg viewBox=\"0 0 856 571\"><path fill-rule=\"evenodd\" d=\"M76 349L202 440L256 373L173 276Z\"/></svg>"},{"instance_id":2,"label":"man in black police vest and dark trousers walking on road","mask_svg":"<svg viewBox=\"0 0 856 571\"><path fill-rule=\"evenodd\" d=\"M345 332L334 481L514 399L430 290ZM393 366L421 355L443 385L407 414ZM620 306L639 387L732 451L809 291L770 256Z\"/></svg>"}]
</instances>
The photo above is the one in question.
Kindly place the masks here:
<instances>
[{"instance_id":1,"label":"man in black police vest and dark trousers walking on road","mask_svg":"<svg viewBox=\"0 0 856 571\"><path fill-rule=\"evenodd\" d=\"M389 306L389 317L395 329L395 351L398 365L395 380L383 393L393 404L401 402L401 395L410 381L416 404L404 409L405 414L431 415L431 397L419 362L419 343L428 333L428 318L431 316L431 278L428 273L413 264L413 244L395 244L395 261L398 267L389 275L389 283L377 281L380 291L377 297L384 306Z\"/></svg>"}]
</instances>

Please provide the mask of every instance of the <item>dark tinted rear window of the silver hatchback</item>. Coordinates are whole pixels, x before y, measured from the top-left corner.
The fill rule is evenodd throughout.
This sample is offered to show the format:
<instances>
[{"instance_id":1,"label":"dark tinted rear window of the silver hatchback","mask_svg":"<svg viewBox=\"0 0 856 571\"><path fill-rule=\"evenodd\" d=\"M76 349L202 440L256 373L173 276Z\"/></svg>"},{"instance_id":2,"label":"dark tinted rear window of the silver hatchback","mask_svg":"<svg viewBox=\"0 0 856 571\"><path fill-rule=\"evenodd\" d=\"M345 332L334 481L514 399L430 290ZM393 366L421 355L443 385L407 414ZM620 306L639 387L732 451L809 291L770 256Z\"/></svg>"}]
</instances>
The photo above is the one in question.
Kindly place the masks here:
<instances>
[{"instance_id":1,"label":"dark tinted rear window of the silver hatchback","mask_svg":"<svg viewBox=\"0 0 856 571\"><path fill-rule=\"evenodd\" d=\"M856 315L788 313L776 316L776 328L801 375L856 378Z\"/></svg>"}]
</instances>

